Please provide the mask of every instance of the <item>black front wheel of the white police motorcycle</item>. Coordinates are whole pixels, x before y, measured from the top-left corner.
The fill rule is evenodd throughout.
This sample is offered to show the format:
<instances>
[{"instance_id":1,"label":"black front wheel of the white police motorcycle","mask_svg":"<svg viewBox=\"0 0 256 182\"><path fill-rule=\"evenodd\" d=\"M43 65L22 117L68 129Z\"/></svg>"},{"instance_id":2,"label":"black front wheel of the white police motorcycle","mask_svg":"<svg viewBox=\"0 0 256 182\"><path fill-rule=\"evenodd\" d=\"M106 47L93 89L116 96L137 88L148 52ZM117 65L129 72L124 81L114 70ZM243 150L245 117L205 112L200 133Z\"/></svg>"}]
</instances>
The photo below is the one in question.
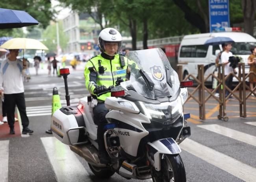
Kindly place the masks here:
<instances>
[{"instance_id":1,"label":"black front wheel of the white police motorcycle","mask_svg":"<svg viewBox=\"0 0 256 182\"><path fill-rule=\"evenodd\" d=\"M186 172L180 155L161 156L161 170L152 169L153 182L186 182Z\"/></svg>"}]
</instances>

